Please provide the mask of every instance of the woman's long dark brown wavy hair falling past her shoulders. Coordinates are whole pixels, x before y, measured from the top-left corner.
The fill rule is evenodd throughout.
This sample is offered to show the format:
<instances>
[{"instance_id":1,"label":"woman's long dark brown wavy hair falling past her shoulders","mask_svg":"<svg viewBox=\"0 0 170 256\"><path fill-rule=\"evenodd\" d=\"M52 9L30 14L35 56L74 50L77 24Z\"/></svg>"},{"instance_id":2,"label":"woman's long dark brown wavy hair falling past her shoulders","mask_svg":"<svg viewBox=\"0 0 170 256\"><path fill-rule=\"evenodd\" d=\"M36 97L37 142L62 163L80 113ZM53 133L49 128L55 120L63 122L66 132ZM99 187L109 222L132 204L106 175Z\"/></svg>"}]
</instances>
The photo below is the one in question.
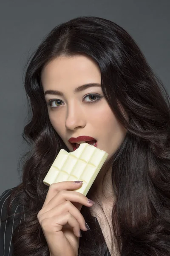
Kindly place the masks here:
<instances>
[{"instance_id":1,"label":"woman's long dark brown wavy hair falling past her shoulders","mask_svg":"<svg viewBox=\"0 0 170 256\"><path fill-rule=\"evenodd\" d=\"M49 120L41 71L53 58L81 54L99 65L104 96L127 130L108 163L115 194L112 241L121 256L170 255L170 97L131 36L93 16L56 26L28 61L25 90L31 111L23 138L31 150L22 158L22 182L10 197L10 202L18 198L25 213L13 233L14 255L49 256L37 213L48 192L43 179L59 150L68 148ZM104 255L105 240L91 209L82 206L81 213L91 231L82 233L78 255Z\"/></svg>"}]
</instances>

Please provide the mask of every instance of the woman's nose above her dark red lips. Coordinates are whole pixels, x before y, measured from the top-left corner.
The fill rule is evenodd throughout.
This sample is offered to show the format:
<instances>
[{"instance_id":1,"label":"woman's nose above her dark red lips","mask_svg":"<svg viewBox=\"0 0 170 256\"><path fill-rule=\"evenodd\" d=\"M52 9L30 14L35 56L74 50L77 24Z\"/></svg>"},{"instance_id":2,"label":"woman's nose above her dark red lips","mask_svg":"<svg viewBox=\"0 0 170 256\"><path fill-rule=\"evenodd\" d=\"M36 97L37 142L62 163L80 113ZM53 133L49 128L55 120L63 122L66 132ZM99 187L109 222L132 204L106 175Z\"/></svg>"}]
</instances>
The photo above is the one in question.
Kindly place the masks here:
<instances>
[{"instance_id":1,"label":"woman's nose above her dark red lips","mask_svg":"<svg viewBox=\"0 0 170 256\"><path fill-rule=\"evenodd\" d=\"M75 130L76 128L84 128L86 125L85 114L80 105L72 102L68 107L67 116L65 120L65 127L68 130Z\"/></svg>"}]
</instances>

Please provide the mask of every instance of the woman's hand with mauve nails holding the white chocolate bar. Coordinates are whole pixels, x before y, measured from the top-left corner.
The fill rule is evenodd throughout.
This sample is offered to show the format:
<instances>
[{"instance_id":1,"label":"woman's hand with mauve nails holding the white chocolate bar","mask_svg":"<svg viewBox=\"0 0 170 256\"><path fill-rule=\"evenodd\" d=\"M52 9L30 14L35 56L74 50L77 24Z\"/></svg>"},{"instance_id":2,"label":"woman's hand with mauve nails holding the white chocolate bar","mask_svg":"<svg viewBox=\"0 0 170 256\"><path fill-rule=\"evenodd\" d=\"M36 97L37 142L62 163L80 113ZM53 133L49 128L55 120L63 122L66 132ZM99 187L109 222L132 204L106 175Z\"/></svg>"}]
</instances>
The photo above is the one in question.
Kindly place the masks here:
<instances>
[{"instance_id":1,"label":"woman's hand with mauve nails holding the white chocolate bar","mask_svg":"<svg viewBox=\"0 0 170 256\"><path fill-rule=\"evenodd\" d=\"M78 255L80 229L88 230L80 210L82 205L93 205L88 203L85 195L71 191L81 185L74 181L51 184L42 209L37 214L50 256Z\"/></svg>"}]
</instances>

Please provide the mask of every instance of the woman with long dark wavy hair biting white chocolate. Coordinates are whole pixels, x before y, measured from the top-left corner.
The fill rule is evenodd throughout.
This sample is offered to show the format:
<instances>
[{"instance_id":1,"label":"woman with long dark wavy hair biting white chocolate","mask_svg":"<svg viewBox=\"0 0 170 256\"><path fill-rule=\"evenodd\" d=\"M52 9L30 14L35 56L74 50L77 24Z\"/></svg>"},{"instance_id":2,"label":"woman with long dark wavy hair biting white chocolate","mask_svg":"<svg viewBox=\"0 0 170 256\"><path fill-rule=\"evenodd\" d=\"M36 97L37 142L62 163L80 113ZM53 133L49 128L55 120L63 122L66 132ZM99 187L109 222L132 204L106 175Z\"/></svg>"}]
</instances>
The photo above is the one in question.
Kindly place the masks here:
<instances>
[{"instance_id":1,"label":"woman with long dark wavy hair biting white chocolate","mask_svg":"<svg viewBox=\"0 0 170 256\"><path fill-rule=\"evenodd\" d=\"M32 148L22 183L0 198L1 255L169 255L170 99L130 35L99 17L60 24L29 61L25 89ZM82 183L43 183L79 136L109 154L86 197L74 191Z\"/></svg>"}]
</instances>

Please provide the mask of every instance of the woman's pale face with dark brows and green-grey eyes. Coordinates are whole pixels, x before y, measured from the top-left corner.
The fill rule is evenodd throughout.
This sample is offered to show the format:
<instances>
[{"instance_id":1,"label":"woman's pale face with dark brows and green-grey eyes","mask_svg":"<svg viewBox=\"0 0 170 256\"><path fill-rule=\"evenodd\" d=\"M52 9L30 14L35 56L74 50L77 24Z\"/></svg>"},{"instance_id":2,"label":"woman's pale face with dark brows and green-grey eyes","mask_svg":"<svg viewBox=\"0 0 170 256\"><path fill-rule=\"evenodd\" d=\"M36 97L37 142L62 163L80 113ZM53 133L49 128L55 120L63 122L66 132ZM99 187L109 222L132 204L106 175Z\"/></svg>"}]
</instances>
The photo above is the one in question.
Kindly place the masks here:
<instances>
[{"instance_id":1,"label":"woman's pale face with dark brows and green-grey eyes","mask_svg":"<svg viewBox=\"0 0 170 256\"><path fill-rule=\"evenodd\" d=\"M97 140L97 148L109 154L109 159L126 131L103 95L98 65L84 55L58 57L45 65L41 81L44 93L58 91L45 94L45 100L52 100L48 105L49 119L67 148L73 151L68 142L71 137L90 136ZM99 85L75 92L77 87L90 83Z\"/></svg>"}]
</instances>

